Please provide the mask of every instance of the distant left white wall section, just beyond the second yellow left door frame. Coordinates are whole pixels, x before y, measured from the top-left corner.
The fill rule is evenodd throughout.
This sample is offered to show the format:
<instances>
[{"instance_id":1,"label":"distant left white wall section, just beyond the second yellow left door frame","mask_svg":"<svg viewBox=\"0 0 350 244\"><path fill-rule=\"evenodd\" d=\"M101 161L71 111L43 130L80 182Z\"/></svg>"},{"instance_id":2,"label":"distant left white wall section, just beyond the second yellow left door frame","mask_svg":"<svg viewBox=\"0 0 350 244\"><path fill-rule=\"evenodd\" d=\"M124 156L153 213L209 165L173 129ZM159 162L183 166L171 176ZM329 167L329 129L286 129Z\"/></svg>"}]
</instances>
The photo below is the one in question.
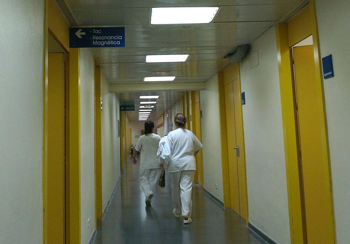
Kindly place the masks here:
<instances>
[{"instance_id":1,"label":"distant left white wall section, just beyond the second yellow left door frame","mask_svg":"<svg viewBox=\"0 0 350 244\"><path fill-rule=\"evenodd\" d=\"M101 113L102 136L102 208L108 200L120 176L120 137L118 137L119 98L109 93L109 84L101 75Z\"/></svg>"}]
</instances>

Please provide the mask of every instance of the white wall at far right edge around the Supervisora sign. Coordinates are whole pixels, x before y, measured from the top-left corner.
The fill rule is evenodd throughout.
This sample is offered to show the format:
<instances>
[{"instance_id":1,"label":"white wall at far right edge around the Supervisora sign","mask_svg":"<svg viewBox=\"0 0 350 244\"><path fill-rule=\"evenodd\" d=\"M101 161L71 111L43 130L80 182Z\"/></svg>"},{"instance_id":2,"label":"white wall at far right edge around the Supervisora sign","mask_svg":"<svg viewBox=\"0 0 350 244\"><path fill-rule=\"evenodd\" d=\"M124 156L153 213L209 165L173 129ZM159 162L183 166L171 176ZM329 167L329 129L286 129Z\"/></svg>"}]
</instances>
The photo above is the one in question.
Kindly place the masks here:
<instances>
[{"instance_id":1,"label":"white wall at far right edge around the Supervisora sign","mask_svg":"<svg viewBox=\"0 0 350 244\"><path fill-rule=\"evenodd\" d=\"M321 57L332 55L334 78L323 81L328 124L336 236L349 243L350 231L350 1L316 0Z\"/></svg>"}]
</instances>

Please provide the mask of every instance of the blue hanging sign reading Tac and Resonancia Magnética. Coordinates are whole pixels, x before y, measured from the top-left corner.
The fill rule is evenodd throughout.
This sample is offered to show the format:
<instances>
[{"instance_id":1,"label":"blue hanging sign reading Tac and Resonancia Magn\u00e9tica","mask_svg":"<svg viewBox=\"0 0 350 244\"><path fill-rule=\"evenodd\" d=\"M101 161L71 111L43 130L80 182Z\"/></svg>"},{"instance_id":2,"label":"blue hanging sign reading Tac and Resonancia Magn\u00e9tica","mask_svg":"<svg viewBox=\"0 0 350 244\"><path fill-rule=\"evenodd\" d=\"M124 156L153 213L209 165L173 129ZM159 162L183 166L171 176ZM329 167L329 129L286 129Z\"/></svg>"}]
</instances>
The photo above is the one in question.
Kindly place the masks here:
<instances>
[{"instance_id":1,"label":"blue hanging sign reading Tac and Resonancia Magn\u00e9tica","mask_svg":"<svg viewBox=\"0 0 350 244\"><path fill-rule=\"evenodd\" d=\"M82 27L69 29L70 48L119 48L124 46L124 27Z\"/></svg>"}]
</instances>

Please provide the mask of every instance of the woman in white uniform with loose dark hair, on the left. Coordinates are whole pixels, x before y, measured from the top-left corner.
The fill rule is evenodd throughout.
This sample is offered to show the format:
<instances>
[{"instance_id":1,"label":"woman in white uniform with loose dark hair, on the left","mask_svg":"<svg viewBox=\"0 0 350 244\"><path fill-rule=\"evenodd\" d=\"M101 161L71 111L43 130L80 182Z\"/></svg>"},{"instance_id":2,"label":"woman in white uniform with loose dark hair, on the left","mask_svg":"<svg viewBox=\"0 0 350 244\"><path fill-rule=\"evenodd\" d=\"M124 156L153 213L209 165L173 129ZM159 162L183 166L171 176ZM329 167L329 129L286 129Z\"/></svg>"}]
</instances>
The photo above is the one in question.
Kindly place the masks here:
<instances>
[{"instance_id":1,"label":"woman in white uniform with loose dark hair, on the left","mask_svg":"<svg viewBox=\"0 0 350 244\"><path fill-rule=\"evenodd\" d=\"M160 166L157 156L161 137L154 132L153 121L146 121L145 135L140 136L133 154L133 164L137 164L137 153L141 151L140 183L146 196L146 205L151 205L155 186L159 178Z\"/></svg>"}]
</instances>

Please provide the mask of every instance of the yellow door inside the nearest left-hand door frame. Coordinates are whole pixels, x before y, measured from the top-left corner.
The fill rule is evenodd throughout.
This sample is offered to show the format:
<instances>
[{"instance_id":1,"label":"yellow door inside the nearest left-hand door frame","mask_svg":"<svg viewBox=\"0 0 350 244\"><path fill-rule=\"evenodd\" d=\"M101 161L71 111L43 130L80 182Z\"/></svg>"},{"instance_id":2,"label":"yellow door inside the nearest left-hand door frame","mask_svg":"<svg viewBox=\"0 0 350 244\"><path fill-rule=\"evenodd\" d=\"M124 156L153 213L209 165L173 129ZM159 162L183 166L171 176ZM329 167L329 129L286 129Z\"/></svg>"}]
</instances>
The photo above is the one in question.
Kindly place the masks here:
<instances>
[{"instance_id":1,"label":"yellow door inside the nearest left-hand door frame","mask_svg":"<svg viewBox=\"0 0 350 244\"><path fill-rule=\"evenodd\" d=\"M47 243L64 243L64 56L48 56Z\"/></svg>"}]
</instances>

